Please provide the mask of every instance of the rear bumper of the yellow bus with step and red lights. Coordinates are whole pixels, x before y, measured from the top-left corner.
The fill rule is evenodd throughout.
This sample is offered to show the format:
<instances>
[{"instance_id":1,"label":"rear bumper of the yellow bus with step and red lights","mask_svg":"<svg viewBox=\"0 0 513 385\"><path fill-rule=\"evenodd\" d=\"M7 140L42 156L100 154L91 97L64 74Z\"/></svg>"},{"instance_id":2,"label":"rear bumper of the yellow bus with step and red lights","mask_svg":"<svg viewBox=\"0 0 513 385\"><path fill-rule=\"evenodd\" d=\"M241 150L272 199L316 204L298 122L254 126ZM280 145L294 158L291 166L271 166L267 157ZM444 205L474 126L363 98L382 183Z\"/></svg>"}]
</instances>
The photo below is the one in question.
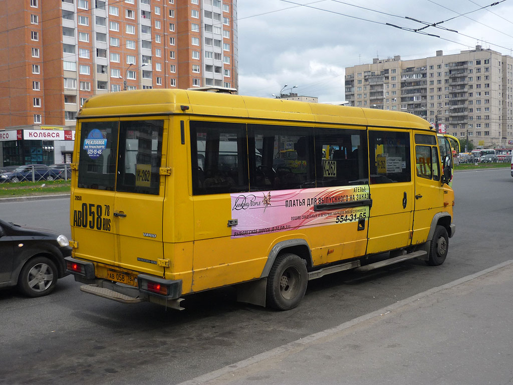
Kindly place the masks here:
<instances>
[{"instance_id":1,"label":"rear bumper of the yellow bus with step and red lights","mask_svg":"<svg viewBox=\"0 0 513 385\"><path fill-rule=\"evenodd\" d=\"M86 293L98 295L100 297L123 303L143 301L160 302L160 300L169 301L178 299L182 295L181 279L170 280L146 274L138 274L138 286L129 286L122 283L109 281L108 279L104 278L96 278L94 273L94 264L92 262L86 262L72 257L66 257L65 260L67 266L69 266L69 264L80 266L78 269L70 269L69 267L67 268L67 272L75 276L75 281L85 283L88 286L96 287L98 289L96 290L90 288L89 290L83 290L84 286L82 286L81 290ZM148 285L148 282L151 284ZM156 286L166 287L166 294L162 294L162 292L155 293L154 291L148 290L148 287ZM125 297L130 297L131 299Z\"/></svg>"}]
</instances>

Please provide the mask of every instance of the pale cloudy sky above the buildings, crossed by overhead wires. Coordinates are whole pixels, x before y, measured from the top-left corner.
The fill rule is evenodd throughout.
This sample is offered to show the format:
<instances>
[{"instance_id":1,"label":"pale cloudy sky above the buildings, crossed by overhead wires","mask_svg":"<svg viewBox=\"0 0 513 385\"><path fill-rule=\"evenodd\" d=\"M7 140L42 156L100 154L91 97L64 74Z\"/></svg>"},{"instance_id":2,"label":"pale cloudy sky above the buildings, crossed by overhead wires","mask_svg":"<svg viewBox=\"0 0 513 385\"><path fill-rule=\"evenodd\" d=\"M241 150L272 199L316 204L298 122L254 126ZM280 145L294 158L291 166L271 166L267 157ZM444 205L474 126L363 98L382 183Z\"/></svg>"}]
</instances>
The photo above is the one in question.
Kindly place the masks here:
<instances>
[{"instance_id":1,"label":"pale cloudy sky above the buildings, crossed by overhead wires","mask_svg":"<svg viewBox=\"0 0 513 385\"><path fill-rule=\"evenodd\" d=\"M239 93L343 101L345 67L483 48L511 55L513 0L238 0ZM486 7L486 8L483 8ZM480 9L483 8L483 9ZM399 17L398 17L399 16ZM439 23L439 28L427 24ZM449 20L450 19L450 20ZM457 32L449 31L454 30Z\"/></svg>"}]
</instances>

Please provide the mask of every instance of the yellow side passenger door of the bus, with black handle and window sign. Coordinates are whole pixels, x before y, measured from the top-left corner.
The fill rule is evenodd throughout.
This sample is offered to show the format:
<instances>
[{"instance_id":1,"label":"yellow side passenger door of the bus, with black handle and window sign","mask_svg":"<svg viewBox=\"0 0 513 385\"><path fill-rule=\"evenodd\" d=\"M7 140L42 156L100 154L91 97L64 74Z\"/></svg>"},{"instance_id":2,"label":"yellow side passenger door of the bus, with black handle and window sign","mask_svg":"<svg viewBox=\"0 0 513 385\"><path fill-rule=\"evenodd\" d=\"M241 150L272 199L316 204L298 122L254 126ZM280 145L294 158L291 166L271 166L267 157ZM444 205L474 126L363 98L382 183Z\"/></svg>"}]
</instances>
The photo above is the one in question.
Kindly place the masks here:
<instances>
[{"instance_id":1,"label":"yellow side passenger door of the bus, with black handle and window sign","mask_svg":"<svg viewBox=\"0 0 513 385\"><path fill-rule=\"evenodd\" d=\"M370 208L367 254L410 244L415 200L411 138L405 130L369 128Z\"/></svg>"}]
</instances>

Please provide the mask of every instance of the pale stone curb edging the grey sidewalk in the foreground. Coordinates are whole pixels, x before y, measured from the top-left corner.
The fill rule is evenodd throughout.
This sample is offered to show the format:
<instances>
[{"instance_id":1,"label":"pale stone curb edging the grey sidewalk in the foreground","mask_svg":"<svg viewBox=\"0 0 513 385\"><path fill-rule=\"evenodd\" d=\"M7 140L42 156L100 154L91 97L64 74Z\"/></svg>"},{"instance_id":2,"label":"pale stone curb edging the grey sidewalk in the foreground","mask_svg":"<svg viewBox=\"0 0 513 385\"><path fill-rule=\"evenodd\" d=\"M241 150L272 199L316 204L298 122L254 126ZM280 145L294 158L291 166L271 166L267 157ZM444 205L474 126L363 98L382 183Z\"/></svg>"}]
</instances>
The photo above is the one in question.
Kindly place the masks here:
<instances>
[{"instance_id":1,"label":"pale stone curb edging the grey sidewalk in the foreground","mask_svg":"<svg viewBox=\"0 0 513 385\"><path fill-rule=\"evenodd\" d=\"M257 364L257 363L259 363L261 361L264 361L264 360L267 360L267 359L279 356L281 354L291 353L294 350L302 349L302 347L303 348L306 347L306 345L310 344L311 342L314 342L314 341L317 341L317 340L319 340L321 338L329 337L329 336L332 336L334 334L340 333L340 332L342 332L342 331L344 331L346 329L351 328L351 326L357 325L357 324L359 324L361 322L368 321L368 320L370 320L372 318L384 316L385 314L389 314L390 312L392 312L394 310L397 310L397 309L400 309L401 307L403 307L405 305L408 305L410 303L418 301L418 300L420 300L422 298L426 298L426 297L428 297L430 295L442 292L442 291L444 291L446 289L449 289L451 287L455 287L455 286L458 286L458 285L460 285L462 283L466 283L466 282L471 281L473 279L479 278L479 277L481 277L483 275L486 275L488 273L494 272L497 269L500 269L502 267L508 266L510 264L513 264L513 260L508 260L508 261L499 263L499 264L497 264L495 266L492 266L492 267L489 267L487 269L484 269L484 270L482 270L482 271L480 271L478 273L471 274L471 275L468 275L466 277L462 277L460 279L457 279L455 281L446 283L446 284L441 285L441 286L433 287L433 288L431 288L431 289L429 289L429 290L427 290L425 292L422 292L422 293L419 293L417 295L411 296L409 298L403 299L403 300L398 301L396 303L392 303L391 305L383 307L380 310L377 310L377 311L374 311L372 313L368 313L368 314L365 314L363 316L354 318L354 319L352 319L350 321L344 322L344 323L342 323L342 324L340 324L338 326L335 326L334 328L326 329L326 330L323 330L321 332L314 333L314 334L311 334L311 335L306 336L304 338L301 338L299 340L295 340L295 341L289 342L289 343L287 343L285 345L282 345L281 347L274 348L274 349L269 350L267 352L264 352L264 353L261 353L261 354L257 354L255 356L249 357L249 358L247 358L245 360L242 360L242 361L236 362L234 364L228 365L228 366L226 366L224 368L221 368L221 369L212 371L210 373L206 373L204 375L195 377L193 379L181 382L179 385L200 385L200 384L205 384L205 383L208 383L210 381L214 381L216 379L219 379L220 377L225 376L225 375L227 375L229 373L234 373L234 372L239 371L241 369L247 368L250 365Z\"/></svg>"}]
</instances>

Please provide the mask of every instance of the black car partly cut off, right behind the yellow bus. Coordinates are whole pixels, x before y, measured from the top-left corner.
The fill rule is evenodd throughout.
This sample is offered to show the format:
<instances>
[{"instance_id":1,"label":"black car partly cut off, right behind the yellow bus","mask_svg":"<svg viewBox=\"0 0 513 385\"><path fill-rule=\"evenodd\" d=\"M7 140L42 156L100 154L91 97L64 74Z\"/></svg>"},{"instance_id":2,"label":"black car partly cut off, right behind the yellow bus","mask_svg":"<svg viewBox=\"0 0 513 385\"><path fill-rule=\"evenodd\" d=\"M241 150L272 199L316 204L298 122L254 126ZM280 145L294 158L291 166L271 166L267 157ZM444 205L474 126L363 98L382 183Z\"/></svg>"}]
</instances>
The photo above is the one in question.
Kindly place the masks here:
<instances>
[{"instance_id":1,"label":"black car partly cut off, right behind the yellow bus","mask_svg":"<svg viewBox=\"0 0 513 385\"><path fill-rule=\"evenodd\" d=\"M0 220L0 287L18 286L29 297L50 294L66 276L66 236Z\"/></svg>"}]
</instances>

